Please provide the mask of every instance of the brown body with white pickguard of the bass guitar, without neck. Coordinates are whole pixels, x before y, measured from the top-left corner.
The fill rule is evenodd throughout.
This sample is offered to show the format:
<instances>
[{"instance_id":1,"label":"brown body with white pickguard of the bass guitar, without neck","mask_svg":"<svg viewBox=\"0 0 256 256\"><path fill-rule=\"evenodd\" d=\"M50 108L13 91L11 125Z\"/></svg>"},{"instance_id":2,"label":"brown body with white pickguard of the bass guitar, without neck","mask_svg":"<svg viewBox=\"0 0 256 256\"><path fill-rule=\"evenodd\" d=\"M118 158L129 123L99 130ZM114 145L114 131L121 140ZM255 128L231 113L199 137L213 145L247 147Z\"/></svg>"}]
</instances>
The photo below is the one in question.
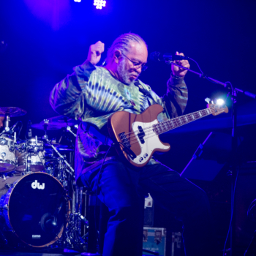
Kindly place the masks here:
<instances>
[{"instance_id":1,"label":"brown body with white pickguard of the bass guitar, without neck","mask_svg":"<svg viewBox=\"0 0 256 256\"><path fill-rule=\"evenodd\" d=\"M162 110L162 106L156 104L151 105L140 115L119 111L108 119L110 138L115 143L118 142L118 154L131 165L143 167L155 151L170 150L170 145L162 143L154 132L154 124L159 123L157 116Z\"/></svg>"}]
</instances>

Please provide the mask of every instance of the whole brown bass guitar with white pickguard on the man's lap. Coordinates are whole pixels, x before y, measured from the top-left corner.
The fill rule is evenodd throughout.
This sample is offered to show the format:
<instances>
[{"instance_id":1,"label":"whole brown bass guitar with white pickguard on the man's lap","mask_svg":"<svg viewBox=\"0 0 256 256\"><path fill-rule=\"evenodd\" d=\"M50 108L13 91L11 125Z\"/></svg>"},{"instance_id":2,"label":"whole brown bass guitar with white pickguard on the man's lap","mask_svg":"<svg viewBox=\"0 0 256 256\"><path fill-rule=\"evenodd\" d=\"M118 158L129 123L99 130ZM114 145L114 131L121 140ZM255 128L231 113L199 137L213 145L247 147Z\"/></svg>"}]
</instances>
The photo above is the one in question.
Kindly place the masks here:
<instances>
[{"instance_id":1,"label":"whole brown bass guitar with white pickguard on the man's lap","mask_svg":"<svg viewBox=\"0 0 256 256\"><path fill-rule=\"evenodd\" d=\"M157 116L163 111L161 105L151 105L143 113L136 115L126 111L113 113L108 119L108 132L116 144L119 156L136 167L143 167L155 151L166 152L170 144L159 139L159 135L181 127L204 116L228 113L226 106L208 104L206 109L184 116L159 122Z\"/></svg>"}]
</instances>

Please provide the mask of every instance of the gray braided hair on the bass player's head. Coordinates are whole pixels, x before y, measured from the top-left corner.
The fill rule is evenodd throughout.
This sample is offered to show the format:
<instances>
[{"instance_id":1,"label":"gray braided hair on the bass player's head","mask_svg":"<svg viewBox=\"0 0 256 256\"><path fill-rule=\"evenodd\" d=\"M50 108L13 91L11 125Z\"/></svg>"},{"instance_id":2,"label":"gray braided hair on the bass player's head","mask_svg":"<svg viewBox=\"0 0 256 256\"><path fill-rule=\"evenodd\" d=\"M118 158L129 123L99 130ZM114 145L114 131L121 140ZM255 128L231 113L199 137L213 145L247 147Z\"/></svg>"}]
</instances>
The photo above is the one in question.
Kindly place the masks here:
<instances>
[{"instance_id":1,"label":"gray braided hair on the bass player's head","mask_svg":"<svg viewBox=\"0 0 256 256\"><path fill-rule=\"evenodd\" d=\"M106 59L107 63L109 63L115 50L121 50L121 53L126 54L129 51L129 42L131 41L143 43L146 45L146 42L138 34L134 34L130 32L126 34L121 34L121 36L116 38L116 40L108 49L108 56ZM146 45L146 48L148 48L147 45Z\"/></svg>"}]
</instances>

